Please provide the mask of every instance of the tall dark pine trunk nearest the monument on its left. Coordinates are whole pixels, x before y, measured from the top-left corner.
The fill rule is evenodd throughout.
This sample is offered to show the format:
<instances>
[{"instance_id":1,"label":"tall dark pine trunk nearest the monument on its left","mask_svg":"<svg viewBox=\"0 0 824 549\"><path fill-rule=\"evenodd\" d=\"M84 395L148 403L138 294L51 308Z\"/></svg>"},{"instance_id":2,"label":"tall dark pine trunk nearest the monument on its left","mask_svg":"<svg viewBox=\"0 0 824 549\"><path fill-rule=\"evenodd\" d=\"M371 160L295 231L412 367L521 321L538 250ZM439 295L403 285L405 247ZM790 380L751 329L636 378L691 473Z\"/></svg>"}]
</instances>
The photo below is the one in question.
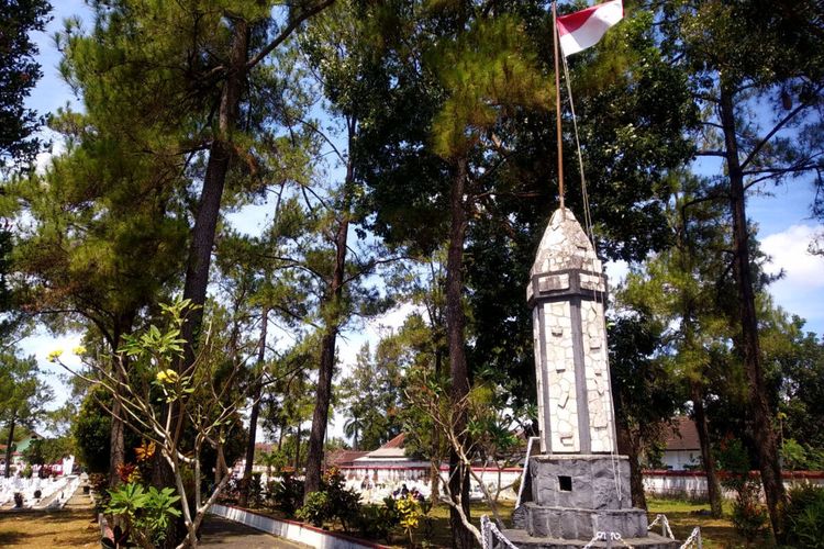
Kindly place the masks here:
<instances>
[{"instance_id":1,"label":"tall dark pine trunk nearest the monument on its left","mask_svg":"<svg viewBox=\"0 0 824 549\"><path fill-rule=\"evenodd\" d=\"M456 163L455 178L449 200L450 227L449 249L446 258L446 327L449 340L450 367L450 400L453 410L461 410L456 418L455 432L463 433L466 427L465 399L469 394L469 372L464 348L464 240L467 229L466 192L467 165L460 158ZM461 435L460 444L466 447L467 441ZM469 471L459 463L455 449L449 452L449 492L453 500L460 494L464 513L469 517ZM453 534L453 547L469 549L475 544L475 537L464 527L460 516L455 508L449 508L449 526Z\"/></svg>"}]
</instances>

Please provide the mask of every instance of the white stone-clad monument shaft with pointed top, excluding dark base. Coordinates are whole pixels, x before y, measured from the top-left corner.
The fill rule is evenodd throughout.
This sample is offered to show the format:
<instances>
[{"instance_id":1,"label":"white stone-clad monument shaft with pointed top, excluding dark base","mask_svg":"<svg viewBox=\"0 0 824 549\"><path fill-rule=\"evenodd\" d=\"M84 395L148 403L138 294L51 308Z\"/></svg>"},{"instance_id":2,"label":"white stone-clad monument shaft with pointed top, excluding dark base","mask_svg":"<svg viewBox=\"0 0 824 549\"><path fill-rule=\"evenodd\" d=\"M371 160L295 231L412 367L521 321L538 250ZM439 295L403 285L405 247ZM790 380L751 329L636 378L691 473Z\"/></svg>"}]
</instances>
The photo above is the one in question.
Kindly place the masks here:
<instances>
[{"instance_id":1,"label":"white stone-clad monument shaft with pointed top, excluding dark base","mask_svg":"<svg viewBox=\"0 0 824 549\"><path fill-rule=\"evenodd\" d=\"M569 210L553 215L530 278L542 451L614 452L606 282L601 261Z\"/></svg>"}]
</instances>

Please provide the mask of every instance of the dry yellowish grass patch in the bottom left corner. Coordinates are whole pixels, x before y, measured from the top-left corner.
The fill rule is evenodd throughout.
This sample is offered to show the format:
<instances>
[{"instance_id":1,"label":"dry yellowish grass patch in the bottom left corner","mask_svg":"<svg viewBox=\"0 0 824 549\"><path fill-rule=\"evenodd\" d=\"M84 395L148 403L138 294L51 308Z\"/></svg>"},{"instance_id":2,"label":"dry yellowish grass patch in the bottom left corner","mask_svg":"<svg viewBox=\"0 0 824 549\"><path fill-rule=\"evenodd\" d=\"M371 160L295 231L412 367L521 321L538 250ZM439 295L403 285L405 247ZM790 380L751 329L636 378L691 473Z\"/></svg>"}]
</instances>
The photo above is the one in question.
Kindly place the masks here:
<instances>
[{"instance_id":1,"label":"dry yellowish grass patch in the bottom left corner","mask_svg":"<svg viewBox=\"0 0 824 549\"><path fill-rule=\"evenodd\" d=\"M92 509L0 513L0 547L100 547Z\"/></svg>"}]
</instances>

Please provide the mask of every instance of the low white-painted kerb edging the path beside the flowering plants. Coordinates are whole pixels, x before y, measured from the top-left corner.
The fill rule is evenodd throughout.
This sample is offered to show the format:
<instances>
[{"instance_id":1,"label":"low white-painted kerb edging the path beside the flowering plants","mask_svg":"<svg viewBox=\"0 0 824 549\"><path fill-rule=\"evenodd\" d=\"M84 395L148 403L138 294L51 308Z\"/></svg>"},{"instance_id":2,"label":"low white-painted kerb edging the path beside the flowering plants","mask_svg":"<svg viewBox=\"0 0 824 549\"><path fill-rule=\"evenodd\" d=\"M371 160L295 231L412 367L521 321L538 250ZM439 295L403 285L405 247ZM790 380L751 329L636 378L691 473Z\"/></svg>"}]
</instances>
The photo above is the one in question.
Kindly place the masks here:
<instances>
[{"instance_id":1,"label":"low white-painted kerb edging the path beside the flowering plants","mask_svg":"<svg viewBox=\"0 0 824 549\"><path fill-rule=\"evenodd\" d=\"M214 504L212 505L210 513L236 523L245 524L256 530L274 534L275 536L291 541L299 541L318 549L389 549L388 546L371 544L343 534L326 531L296 520L258 515L252 511L238 507Z\"/></svg>"}]
</instances>

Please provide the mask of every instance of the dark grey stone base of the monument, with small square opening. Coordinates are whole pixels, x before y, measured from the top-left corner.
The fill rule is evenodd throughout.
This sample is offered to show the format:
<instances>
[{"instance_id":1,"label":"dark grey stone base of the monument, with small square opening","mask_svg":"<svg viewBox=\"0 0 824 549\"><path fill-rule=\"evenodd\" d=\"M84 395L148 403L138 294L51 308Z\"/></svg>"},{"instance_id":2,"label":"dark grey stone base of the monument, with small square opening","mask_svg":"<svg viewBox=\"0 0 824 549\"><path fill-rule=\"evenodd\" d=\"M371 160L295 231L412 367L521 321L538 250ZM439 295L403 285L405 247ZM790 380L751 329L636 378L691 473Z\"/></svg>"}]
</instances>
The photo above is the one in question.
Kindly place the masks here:
<instances>
[{"instance_id":1,"label":"dark grey stone base of the monument, with small square opening","mask_svg":"<svg viewBox=\"0 0 824 549\"><path fill-rule=\"evenodd\" d=\"M513 515L517 530L508 530L525 546L583 547L603 531L633 539L633 547L677 547L649 535L646 512L632 506L626 456L534 456L526 482L528 496Z\"/></svg>"}]
</instances>

